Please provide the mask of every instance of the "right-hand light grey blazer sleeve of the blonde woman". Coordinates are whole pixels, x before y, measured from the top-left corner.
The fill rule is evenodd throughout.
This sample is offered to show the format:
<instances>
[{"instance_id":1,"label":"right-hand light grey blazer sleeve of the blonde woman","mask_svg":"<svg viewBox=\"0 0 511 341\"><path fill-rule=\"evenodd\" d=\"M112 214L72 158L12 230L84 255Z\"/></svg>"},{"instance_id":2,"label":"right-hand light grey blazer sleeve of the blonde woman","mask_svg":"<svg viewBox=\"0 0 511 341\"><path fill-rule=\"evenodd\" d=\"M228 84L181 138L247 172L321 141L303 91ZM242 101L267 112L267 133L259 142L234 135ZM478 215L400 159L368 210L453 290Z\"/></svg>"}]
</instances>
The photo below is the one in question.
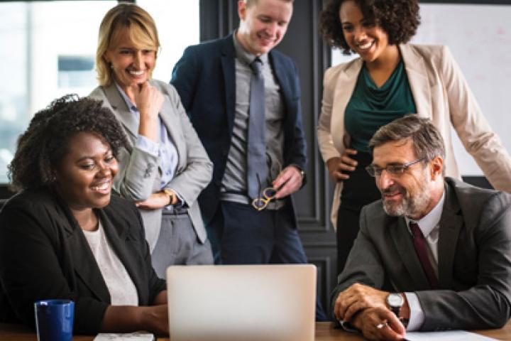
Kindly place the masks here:
<instances>
[{"instance_id":1,"label":"right-hand light grey blazer sleeve of the blonde woman","mask_svg":"<svg viewBox=\"0 0 511 341\"><path fill-rule=\"evenodd\" d=\"M187 150L186 168L167 184L167 188L176 190L185 202L187 202L187 205L191 206L195 200L197 200L201 191L206 188L209 181L211 181L213 163L209 161L209 157L199 140L199 136L197 136L197 132L187 117L185 108L182 106L176 90L174 87L167 85L167 92L175 112L179 117L180 127Z\"/></svg>"}]
</instances>

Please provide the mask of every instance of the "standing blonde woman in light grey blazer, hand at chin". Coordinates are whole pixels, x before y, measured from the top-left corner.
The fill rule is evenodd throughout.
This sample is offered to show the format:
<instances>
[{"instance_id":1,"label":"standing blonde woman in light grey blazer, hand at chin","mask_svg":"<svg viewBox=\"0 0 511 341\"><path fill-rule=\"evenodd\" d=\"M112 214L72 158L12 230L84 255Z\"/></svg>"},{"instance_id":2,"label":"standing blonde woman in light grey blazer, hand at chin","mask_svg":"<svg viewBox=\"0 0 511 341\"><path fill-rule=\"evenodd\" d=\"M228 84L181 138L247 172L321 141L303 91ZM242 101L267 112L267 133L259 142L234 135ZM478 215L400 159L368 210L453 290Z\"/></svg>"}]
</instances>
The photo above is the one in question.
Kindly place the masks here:
<instances>
[{"instance_id":1,"label":"standing blonde woman in light grey blazer, hand at chin","mask_svg":"<svg viewBox=\"0 0 511 341\"><path fill-rule=\"evenodd\" d=\"M136 202L158 276L172 264L212 264L197 196L212 164L172 85L152 80L160 42L153 18L119 4L101 21L96 54L101 99L129 146L119 153L114 188Z\"/></svg>"}]
</instances>

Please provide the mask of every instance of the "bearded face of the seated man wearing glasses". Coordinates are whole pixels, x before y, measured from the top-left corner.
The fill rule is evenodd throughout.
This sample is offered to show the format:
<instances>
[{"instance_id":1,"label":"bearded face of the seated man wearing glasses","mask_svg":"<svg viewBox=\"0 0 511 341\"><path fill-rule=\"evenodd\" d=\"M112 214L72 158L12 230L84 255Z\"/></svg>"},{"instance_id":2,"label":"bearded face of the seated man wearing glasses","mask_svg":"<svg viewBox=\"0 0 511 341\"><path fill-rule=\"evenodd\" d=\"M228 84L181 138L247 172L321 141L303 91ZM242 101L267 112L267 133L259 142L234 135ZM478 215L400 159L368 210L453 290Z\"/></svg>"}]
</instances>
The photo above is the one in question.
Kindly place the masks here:
<instances>
[{"instance_id":1,"label":"bearded face of the seated man wearing glasses","mask_svg":"<svg viewBox=\"0 0 511 341\"><path fill-rule=\"evenodd\" d=\"M405 164L417 160L412 140L390 141L373 150L373 165L385 168L392 164ZM376 175L376 186L382 194L383 208L388 215L407 216L419 220L438 202L437 182L441 178L438 159L415 163L402 175L383 171ZM443 178L441 178L443 183ZM440 188L441 190L441 188Z\"/></svg>"}]
</instances>

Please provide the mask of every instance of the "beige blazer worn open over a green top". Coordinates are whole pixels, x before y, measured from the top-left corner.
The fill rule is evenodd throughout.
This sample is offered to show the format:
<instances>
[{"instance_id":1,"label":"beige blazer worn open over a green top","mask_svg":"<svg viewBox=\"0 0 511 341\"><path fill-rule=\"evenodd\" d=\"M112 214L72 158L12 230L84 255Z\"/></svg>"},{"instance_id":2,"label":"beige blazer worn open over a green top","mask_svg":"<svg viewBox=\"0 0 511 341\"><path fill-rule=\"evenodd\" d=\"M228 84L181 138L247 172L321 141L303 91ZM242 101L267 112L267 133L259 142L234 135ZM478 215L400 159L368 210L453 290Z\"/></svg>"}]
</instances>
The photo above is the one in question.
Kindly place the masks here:
<instances>
[{"instance_id":1,"label":"beige blazer worn open over a green top","mask_svg":"<svg viewBox=\"0 0 511 341\"><path fill-rule=\"evenodd\" d=\"M494 188L511 193L511 158L481 113L449 48L439 45L400 45L417 114L432 119L446 144L446 175L460 178L451 142L451 126ZM363 60L326 70L322 112L317 127L323 160L341 156L347 136L344 111L356 85ZM336 227L342 182L337 183L331 220Z\"/></svg>"}]
</instances>

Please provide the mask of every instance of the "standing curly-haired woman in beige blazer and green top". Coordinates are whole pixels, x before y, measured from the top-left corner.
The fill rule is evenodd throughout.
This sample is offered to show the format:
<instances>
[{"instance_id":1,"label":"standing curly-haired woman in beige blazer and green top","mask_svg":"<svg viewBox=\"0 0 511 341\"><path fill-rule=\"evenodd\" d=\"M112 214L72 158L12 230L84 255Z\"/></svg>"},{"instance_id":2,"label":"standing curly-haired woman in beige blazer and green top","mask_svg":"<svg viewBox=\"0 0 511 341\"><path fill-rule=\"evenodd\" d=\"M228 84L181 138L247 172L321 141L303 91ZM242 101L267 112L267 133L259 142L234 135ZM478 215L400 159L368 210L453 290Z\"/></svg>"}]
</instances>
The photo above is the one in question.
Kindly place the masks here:
<instances>
[{"instance_id":1,"label":"standing curly-haired woman in beige blazer and green top","mask_svg":"<svg viewBox=\"0 0 511 341\"><path fill-rule=\"evenodd\" d=\"M318 124L319 148L337 181L332 220L339 273L358 234L361 208L381 198L365 170L372 161L368 141L394 119L412 113L431 119L446 141L446 175L460 178L452 126L493 187L511 193L511 158L449 49L407 43L418 26L418 0L331 0L322 11L327 42L360 56L326 70ZM393 188L399 200L414 194Z\"/></svg>"}]
</instances>

